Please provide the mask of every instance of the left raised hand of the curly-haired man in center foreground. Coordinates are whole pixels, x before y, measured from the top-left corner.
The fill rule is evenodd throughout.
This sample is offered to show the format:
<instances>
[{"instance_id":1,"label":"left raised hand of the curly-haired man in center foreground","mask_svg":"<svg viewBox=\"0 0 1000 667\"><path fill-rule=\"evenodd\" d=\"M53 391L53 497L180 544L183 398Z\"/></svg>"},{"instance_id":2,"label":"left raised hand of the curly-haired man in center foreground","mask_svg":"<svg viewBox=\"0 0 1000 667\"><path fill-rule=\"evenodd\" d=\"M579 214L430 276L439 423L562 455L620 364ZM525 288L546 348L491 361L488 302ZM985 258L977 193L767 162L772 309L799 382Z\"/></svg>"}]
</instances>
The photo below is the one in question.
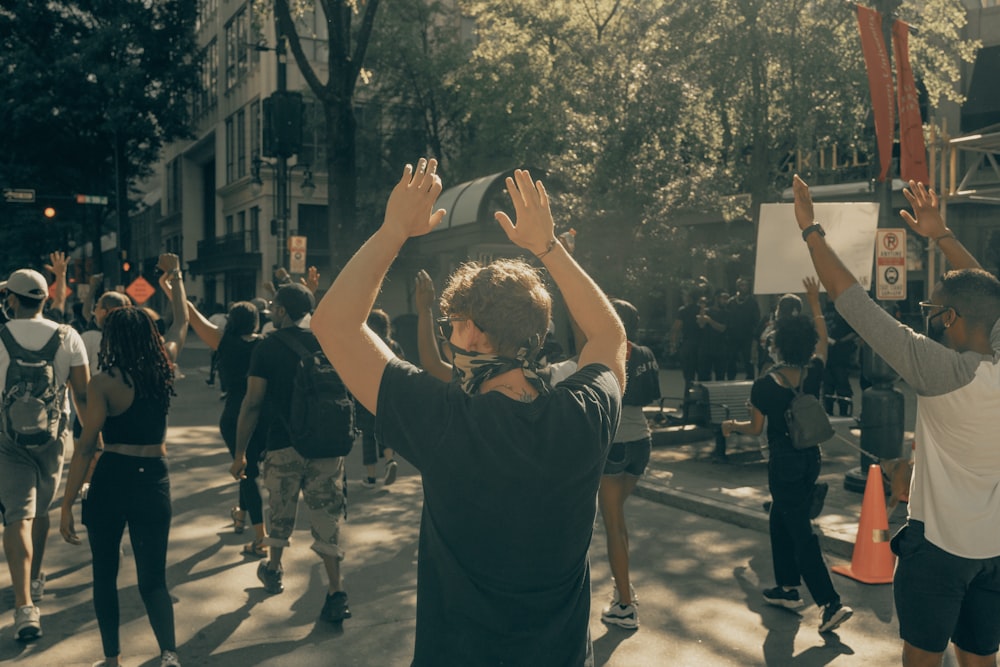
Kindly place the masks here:
<instances>
[{"instance_id":1,"label":"left raised hand of the curly-haired man in center foreground","mask_svg":"<svg viewBox=\"0 0 1000 667\"><path fill-rule=\"evenodd\" d=\"M413 165L406 165L399 183L389 195L382 223L384 228L398 232L404 238L412 238L423 236L444 219L444 209L432 213L434 202L442 190L437 164L433 158L420 158L416 170Z\"/></svg>"}]
</instances>

